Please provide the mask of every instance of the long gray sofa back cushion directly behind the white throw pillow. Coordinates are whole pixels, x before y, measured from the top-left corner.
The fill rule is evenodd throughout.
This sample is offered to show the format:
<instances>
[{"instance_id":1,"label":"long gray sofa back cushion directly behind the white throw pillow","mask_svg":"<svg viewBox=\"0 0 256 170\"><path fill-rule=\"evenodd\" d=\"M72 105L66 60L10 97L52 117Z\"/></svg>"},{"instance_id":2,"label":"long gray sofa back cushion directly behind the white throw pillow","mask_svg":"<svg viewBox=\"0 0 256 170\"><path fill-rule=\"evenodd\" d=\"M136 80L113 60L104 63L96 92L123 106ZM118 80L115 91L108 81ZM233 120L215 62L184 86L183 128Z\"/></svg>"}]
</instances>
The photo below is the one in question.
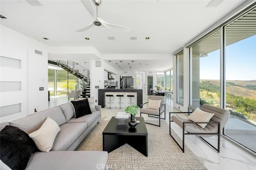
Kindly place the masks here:
<instances>
[{"instance_id":1,"label":"long gray sofa back cushion directly behind the white throw pillow","mask_svg":"<svg viewBox=\"0 0 256 170\"><path fill-rule=\"evenodd\" d=\"M56 121L56 123L60 126L63 123L66 123L66 119L62 113L60 107L52 107L50 109L46 109L44 111L36 112L32 115L28 115L26 117L22 117L20 119L14 120L10 122L11 126L18 127L22 131L30 134L36 130L38 130L46 117L50 117L52 120Z\"/></svg>"}]
</instances>

